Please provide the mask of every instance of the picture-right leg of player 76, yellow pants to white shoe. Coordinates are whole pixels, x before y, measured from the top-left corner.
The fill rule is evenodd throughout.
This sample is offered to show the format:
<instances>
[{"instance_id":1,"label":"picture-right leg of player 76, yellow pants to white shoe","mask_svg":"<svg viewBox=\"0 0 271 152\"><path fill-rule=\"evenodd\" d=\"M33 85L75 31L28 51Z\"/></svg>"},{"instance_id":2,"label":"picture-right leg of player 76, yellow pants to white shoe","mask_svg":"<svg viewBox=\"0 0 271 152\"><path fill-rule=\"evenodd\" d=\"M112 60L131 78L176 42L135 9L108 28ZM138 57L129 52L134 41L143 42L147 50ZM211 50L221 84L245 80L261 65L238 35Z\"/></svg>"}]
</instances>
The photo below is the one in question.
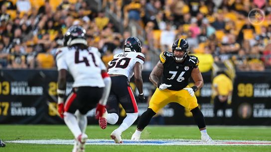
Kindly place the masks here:
<instances>
[{"instance_id":1,"label":"picture-right leg of player 76, yellow pants to white shoe","mask_svg":"<svg viewBox=\"0 0 271 152\"><path fill-rule=\"evenodd\" d=\"M197 103L196 96L191 96L188 91L184 89L175 91L175 94L177 96L178 103L192 112L195 123L201 132L201 140L204 142L211 142L212 139L207 134L204 116L198 107L199 105Z\"/></svg>"}]
</instances>

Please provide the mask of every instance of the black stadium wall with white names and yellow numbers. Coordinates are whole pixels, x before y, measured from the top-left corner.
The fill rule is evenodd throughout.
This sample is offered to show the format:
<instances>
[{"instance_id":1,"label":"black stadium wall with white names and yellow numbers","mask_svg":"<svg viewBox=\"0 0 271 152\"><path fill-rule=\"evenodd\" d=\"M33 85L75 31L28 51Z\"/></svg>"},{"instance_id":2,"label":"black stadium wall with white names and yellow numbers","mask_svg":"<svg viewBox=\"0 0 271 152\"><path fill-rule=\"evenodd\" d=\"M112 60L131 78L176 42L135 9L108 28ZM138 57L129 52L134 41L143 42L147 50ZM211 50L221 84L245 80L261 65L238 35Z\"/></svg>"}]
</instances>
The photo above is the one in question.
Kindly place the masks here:
<instances>
[{"instance_id":1,"label":"black stadium wall with white names and yellow numbers","mask_svg":"<svg viewBox=\"0 0 271 152\"><path fill-rule=\"evenodd\" d=\"M150 72L143 72L143 89L151 96L155 87L148 80ZM211 73L203 73L204 87L196 92L200 109L207 125L218 124L214 118L211 99ZM67 94L72 88L68 76ZM0 70L0 124L63 124L57 114L57 71L54 70ZM131 86L137 95L136 86ZM135 95L135 96L136 96ZM91 102L91 101L90 101ZM137 103L139 116L147 102ZM120 106L120 123L126 116ZM88 113L88 123L98 124L95 109ZM194 125L192 113L176 103L170 103L160 113L165 125ZM237 72L232 103L226 109L225 125L271 125L271 72Z\"/></svg>"}]
</instances>

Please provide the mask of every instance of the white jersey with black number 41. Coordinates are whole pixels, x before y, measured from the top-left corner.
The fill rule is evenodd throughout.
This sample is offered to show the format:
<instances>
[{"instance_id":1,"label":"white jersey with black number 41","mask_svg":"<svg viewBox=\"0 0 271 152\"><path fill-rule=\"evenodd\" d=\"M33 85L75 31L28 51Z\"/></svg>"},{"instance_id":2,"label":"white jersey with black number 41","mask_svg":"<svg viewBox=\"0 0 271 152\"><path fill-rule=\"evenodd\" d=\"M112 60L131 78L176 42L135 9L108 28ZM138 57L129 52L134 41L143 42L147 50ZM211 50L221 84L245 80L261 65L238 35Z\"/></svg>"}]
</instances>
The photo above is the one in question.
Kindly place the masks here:
<instances>
[{"instance_id":1,"label":"white jersey with black number 41","mask_svg":"<svg viewBox=\"0 0 271 152\"><path fill-rule=\"evenodd\" d=\"M65 69L73 76L73 87L105 86L101 71L106 70L106 67L97 54L97 48L78 51L75 47L59 48L56 63L58 71Z\"/></svg>"}]
</instances>

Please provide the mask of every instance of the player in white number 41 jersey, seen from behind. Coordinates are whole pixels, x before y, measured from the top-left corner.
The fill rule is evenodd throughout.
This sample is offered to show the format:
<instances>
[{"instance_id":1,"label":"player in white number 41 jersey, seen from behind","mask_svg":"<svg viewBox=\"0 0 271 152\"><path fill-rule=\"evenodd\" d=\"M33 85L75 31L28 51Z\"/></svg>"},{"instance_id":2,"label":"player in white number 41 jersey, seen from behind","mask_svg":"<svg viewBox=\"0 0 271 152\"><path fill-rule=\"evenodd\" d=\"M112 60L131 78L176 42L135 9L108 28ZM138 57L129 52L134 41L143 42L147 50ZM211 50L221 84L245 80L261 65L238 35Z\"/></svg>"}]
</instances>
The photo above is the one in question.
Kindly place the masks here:
<instances>
[{"instance_id":1,"label":"player in white number 41 jersey, seen from behind","mask_svg":"<svg viewBox=\"0 0 271 152\"><path fill-rule=\"evenodd\" d=\"M96 119L103 115L111 78L95 49L87 46L86 31L72 26L64 35L64 46L56 54L58 69L58 112L75 137L72 152L85 152L87 112L98 103ZM64 103L66 75L74 79L73 89ZM78 110L77 115L75 112Z\"/></svg>"}]
</instances>

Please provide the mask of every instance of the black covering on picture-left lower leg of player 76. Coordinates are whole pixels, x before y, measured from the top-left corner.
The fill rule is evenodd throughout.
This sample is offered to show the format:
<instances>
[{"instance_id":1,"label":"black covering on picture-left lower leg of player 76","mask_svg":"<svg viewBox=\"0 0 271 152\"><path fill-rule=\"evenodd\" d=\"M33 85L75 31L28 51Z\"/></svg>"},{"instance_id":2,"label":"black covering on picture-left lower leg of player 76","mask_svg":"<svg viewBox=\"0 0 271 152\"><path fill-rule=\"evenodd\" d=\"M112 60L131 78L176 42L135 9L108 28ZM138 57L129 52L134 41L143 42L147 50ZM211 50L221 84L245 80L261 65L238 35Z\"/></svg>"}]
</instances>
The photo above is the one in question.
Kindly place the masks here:
<instances>
[{"instance_id":1,"label":"black covering on picture-left lower leg of player 76","mask_svg":"<svg viewBox=\"0 0 271 152\"><path fill-rule=\"evenodd\" d=\"M138 120L137 129L143 130L155 114L156 113L152 109L148 108L147 111L145 111Z\"/></svg>"}]
</instances>

